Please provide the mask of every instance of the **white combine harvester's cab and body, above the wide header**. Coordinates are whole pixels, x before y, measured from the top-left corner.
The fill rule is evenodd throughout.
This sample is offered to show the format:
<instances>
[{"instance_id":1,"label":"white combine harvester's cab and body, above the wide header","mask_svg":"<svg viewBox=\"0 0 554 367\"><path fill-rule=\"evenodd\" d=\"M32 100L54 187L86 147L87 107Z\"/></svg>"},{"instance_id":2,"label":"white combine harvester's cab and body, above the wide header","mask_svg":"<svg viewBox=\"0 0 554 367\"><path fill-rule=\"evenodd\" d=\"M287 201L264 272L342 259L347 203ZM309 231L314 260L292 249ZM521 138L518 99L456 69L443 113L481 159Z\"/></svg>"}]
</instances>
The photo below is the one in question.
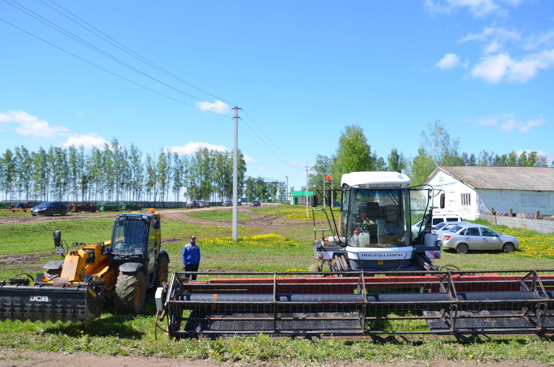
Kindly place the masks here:
<instances>
[{"instance_id":1,"label":"white combine harvester's cab and body, above the wide header","mask_svg":"<svg viewBox=\"0 0 554 367\"><path fill-rule=\"evenodd\" d=\"M430 233L430 218L432 199L440 192L410 183L398 172L352 172L342 175L339 190L317 190L324 200L333 191L341 196L340 210L312 208L323 211L329 225L317 229L313 216L320 267L327 262L330 271L437 270L432 260L440 258L442 243ZM317 198L312 202L317 204ZM330 236L318 238L318 232Z\"/></svg>"}]
</instances>

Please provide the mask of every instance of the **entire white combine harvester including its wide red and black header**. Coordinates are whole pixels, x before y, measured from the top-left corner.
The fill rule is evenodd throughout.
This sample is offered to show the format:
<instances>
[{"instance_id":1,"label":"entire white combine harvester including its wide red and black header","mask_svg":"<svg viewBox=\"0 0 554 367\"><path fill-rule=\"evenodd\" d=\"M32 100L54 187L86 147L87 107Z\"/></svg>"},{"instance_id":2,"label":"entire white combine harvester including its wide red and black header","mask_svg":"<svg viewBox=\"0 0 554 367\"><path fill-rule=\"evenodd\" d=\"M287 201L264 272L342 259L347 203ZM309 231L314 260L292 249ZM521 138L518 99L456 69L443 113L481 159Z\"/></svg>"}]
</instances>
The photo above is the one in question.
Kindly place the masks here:
<instances>
[{"instance_id":1,"label":"entire white combine harvester including its wide red and black header","mask_svg":"<svg viewBox=\"0 0 554 367\"><path fill-rule=\"evenodd\" d=\"M211 272L193 282L173 273L157 298L168 334L554 332L554 269L438 267L431 203L440 195L444 207L444 195L410 183L398 172L352 172L340 189L316 190L341 203L320 209L327 228L314 220L315 258L329 272Z\"/></svg>"}]
</instances>

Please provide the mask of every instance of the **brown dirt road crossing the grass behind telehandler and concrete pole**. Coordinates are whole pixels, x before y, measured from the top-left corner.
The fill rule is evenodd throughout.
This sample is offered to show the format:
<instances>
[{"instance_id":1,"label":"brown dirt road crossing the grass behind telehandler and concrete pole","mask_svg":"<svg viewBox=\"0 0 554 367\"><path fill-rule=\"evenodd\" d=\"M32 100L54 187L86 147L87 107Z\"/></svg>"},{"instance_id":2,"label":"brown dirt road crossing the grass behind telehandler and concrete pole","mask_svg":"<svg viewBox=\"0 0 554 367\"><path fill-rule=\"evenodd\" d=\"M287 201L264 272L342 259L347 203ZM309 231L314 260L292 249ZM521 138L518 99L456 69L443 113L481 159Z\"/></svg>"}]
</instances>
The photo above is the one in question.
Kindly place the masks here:
<instances>
[{"instance_id":1,"label":"brown dirt road crossing the grass behind telehandler and concrete pole","mask_svg":"<svg viewBox=\"0 0 554 367\"><path fill-rule=\"evenodd\" d=\"M263 204L263 206L273 206L273 205L279 205L274 203L268 203ZM252 220L247 221L239 221L239 224L241 226L257 226L261 221L269 221L271 219L275 219L275 215L262 215L253 213L249 210L247 210L249 206L243 206L239 207L240 212L250 215L253 217ZM207 221L202 220L201 218L191 217L188 216L187 213L189 212L198 212L198 211L209 211L209 210L231 210L232 207L228 206L216 206L211 208L197 208L197 209L163 209L160 210L160 213L162 213L163 216L166 218L181 220L181 221L187 221L187 222L193 222L193 223L199 223L202 225L212 225L214 223L218 223L219 226L231 226L231 221ZM35 222L45 222L45 221L59 221L59 220L75 220L75 219L94 219L94 218L112 218L116 215L116 213L110 213L107 212L105 214L85 214L85 213L67 213L67 215L55 215L55 216L36 216L33 217L31 215L24 216L24 217L0 217L0 225L7 225L7 224L20 224L20 223L35 223ZM265 225L272 225L273 222L265 223Z\"/></svg>"}]
</instances>

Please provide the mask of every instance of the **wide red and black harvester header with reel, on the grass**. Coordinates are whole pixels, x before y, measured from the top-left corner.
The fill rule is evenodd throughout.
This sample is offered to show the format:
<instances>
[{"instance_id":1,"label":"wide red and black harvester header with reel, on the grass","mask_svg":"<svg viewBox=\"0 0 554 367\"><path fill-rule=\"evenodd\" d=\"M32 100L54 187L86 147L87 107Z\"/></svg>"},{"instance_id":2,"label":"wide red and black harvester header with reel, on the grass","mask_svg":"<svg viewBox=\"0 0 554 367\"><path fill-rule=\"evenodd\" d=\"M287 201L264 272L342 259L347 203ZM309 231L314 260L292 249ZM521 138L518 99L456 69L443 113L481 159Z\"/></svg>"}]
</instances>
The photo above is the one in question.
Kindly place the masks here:
<instances>
[{"instance_id":1,"label":"wide red and black harvester header with reel, on the grass","mask_svg":"<svg viewBox=\"0 0 554 367\"><path fill-rule=\"evenodd\" d=\"M554 270L186 274L164 303L177 338L554 332Z\"/></svg>"}]
</instances>

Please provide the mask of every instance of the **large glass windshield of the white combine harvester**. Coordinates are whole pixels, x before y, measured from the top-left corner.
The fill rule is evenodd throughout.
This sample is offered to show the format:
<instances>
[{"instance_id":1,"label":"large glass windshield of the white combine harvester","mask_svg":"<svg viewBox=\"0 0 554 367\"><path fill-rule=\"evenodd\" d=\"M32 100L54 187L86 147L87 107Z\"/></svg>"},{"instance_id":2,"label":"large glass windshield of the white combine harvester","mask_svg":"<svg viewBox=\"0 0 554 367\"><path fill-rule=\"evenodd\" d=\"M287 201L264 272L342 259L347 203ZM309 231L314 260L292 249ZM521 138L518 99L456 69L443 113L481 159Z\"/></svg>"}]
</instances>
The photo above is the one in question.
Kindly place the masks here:
<instances>
[{"instance_id":1,"label":"large glass windshield of the white combine harvester","mask_svg":"<svg viewBox=\"0 0 554 367\"><path fill-rule=\"evenodd\" d=\"M352 187L344 200L341 232L348 235L350 246L408 246L405 189Z\"/></svg>"}]
</instances>

